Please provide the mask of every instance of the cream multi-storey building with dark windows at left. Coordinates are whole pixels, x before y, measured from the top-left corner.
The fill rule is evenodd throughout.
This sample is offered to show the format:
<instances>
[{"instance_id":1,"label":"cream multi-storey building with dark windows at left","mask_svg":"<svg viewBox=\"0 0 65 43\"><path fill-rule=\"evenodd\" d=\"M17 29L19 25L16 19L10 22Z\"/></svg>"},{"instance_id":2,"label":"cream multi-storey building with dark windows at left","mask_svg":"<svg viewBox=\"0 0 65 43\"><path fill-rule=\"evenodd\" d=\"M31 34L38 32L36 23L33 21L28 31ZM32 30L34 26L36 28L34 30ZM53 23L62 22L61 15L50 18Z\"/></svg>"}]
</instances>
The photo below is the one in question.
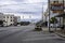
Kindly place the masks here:
<instances>
[{"instance_id":1,"label":"cream multi-storey building with dark windows at left","mask_svg":"<svg viewBox=\"0 0 65 43\"><path fill-rule=\"evenodd\" d=\"M3 15L4 25L10 26L14 24L14 15L4 14Z\"/></svg>"}]
</instances>

